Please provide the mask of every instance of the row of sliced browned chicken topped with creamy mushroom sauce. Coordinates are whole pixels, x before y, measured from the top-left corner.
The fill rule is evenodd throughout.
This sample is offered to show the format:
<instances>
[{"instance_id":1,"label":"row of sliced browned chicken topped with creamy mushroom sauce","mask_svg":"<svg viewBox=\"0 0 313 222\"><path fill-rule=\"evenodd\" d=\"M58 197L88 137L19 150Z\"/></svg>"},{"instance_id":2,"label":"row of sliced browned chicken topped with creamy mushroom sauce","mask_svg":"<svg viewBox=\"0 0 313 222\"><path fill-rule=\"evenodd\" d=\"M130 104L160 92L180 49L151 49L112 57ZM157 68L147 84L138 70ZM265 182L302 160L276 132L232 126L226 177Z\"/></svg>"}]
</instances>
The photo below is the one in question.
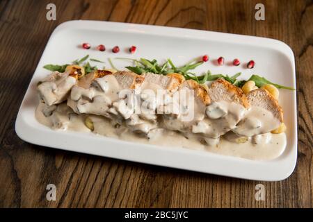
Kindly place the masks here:
<instances>
[{"instance_id":1,"label":"row of sliced browned chicken topped with creamy mushroom sauce","mask_svg":"<svg viewBox=\"0 0 313 222\"><path fill-rule=\"evenodd\" d=\"M149 135L150 130L161 127L193 134L207 143L212 144L214 141L215 144L221 135L230 131L241 136L252 136L268 133L282 122L281 108L265 89L254 90L246 96L239 87L221 78L214 81L208 88L194 80L185 80L180 74L138 75L131 71L112 73L99 70L83 76L78 81L68 74L66 78L72 78L67 80L70 81L67 91L72 89L67 105L74 112L108 117L119 124L124 124L136 133L145 135ZM62 79L59 83L58 78L53 76L49 79L51 80L45 80L48 82L47 85L52 85L52 83L60 85L65 81ZM40 86L38 86L39 89ZM125 94L123 98L120 98L120 92L123 89L128 89L131 94ZM141 89L139 97L134 94L136 89ZM154 92L154 96L144 92L145 89ZM161 102L156 97L159 89L166 89L167 99ZM51 92L54 91L51 89ZM182 92L185 93L182 100L177 100L175 96ZM47 97L47 92L41 89L40 94L45 93ZM53 105L64 101L66 95L63 94L62 99L51 99L47 104ZM133 99L129 100L130 98ZM195 103L191 104L190 101ZM140 102L149 102L149 105L144 108L139 107L141 113L137 113L136 108L141 105ZM175 108L179 111L176 112ZM164 110L170 111L163 112ZM264 110L266 110L266 117L269 116L268 113L271 114L271 118L266 119L268 122L274 122L271 127L264 126L264 117L255 114L255 112L264 114ZM256 116L257 120L253 120L252 116ZM261 121L263 125L259 126L258 121Z\"/></svg>"}]
</instances>

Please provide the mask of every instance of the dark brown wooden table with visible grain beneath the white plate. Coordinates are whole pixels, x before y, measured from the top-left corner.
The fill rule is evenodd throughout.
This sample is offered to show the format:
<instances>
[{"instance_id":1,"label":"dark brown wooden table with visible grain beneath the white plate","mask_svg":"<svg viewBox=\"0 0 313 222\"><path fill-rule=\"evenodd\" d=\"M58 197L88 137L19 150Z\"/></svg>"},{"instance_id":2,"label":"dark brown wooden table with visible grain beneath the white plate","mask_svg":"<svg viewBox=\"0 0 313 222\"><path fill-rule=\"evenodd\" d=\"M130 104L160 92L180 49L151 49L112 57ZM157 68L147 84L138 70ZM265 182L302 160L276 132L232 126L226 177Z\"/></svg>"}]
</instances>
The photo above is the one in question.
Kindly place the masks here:
<instances>
[{"instance_id":1,"label":"dark brown wooden table with visible grain beneath the white plate","mask_svg":"<svg viewBox=\"0 0 313 222\"><path fill-rule=\"evenodd\" d=\"M54 2L56 21L47 21ZM255 20L255 4L265 21ZM0 207L312 207L312 1L0 1ZM298 162L287 180L257 182L154 167L26 143L17 111L51 32L95 19L272 37L296 56ZM255 200L255 185L266 189ZM56 201L46 199L48 184Z\"/></svg>"}]
</instances>

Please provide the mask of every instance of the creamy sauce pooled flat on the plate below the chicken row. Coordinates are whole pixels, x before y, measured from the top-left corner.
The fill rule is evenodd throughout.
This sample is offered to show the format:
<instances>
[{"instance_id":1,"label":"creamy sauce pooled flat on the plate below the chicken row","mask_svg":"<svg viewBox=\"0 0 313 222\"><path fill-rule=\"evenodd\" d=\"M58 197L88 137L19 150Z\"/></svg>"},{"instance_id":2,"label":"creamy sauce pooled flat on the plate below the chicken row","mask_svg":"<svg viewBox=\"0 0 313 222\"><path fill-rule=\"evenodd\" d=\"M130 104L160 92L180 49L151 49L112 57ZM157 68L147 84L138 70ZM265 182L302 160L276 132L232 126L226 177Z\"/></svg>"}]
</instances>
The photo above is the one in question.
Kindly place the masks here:
<instances>
[{"instance_id":1,"label":"creamy sauce pooled flat on the plate below the chicken row","mask_svg":"<svg viewBox=\"0 0 313 222\"><path fill-rule=\"evenodd\" d=\"M266 143L255 144L252 137L246 139L244 143L238 143L226 137L220 139L211 139L209 137L197 137L193 133L183 134L173 130L155 128L155 131L145 135L134 133L127 126L120 126L115 121L106 117L95 115L75 114L67 109L65 103L58 105L58 109L49 117L45 117L43 110L47 105L40 103L36 110L36 119L40 123L55 130L74 130L78 132L93 132L97 135L113 137L129 142L138 142L143 144L154 144L158 146L167 146L172 148L191 148L198 151L209 151L220 155L230 155L242 157L250 160L272 160L279 157L286 146L286 135L271 134L271 139ZM91 131L84 124L84 119L90 117L93 121L94 130ZM234 136L236 137L236 136ZM204 140L208 140L204 142Z\"/></svg>"}]
</instances>

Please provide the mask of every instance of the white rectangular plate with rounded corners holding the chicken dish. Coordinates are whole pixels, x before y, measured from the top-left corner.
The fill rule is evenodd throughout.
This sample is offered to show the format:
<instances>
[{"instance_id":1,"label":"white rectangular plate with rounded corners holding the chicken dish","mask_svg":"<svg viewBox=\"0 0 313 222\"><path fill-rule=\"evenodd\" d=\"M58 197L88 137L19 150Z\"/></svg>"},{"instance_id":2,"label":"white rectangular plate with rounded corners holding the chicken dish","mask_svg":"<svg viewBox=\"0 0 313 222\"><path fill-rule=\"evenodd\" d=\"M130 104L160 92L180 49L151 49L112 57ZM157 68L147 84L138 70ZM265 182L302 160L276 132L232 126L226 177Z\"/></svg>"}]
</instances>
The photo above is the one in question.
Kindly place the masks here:
<instances>
[{"instance_id":1,"label":"white rectangular plate with rounded corners holding the chicken dish","mask_svg":"<svg viewBox=\"0 0 313 222\"><path fill-rule=\"evenodd\" d=\"M83 42L89 42L93 47L81 49ZM106 51L95 50L98 44L104 44ZM111 52L115 45L120 46L118 54ZM127 51L131 45L138 47L134 55ZM41 146L236 178L283 180L294 171L297 157L296 92L290 90L280 90L280 105L287 125L287 148L280 157L271 161L252 161L187 148L136 144L93 133L64 132L42 126L34 115L38 103L36 83L49 74L42 67L50 63L72 62L86 54L104 61L115 57L171 58L177 65L208 54L209 62L195 71L200 73L210 69L214 74L231 75L241 71L245 79L251 74L260 74L275 83L296 87L294 54L287 44L262 37L186 28L95 21L65 22L56 28L47 43L19 109L15 130L21 139ZM226 63L239 58L242 65L214 65L220 56L225 58ZM255 60L254 69L246 69L245 62L249 60ZM109 67L108 62L105 65ZM121 67L123 64L117 62L116 65Z\"/></svg>"}]
</instances>

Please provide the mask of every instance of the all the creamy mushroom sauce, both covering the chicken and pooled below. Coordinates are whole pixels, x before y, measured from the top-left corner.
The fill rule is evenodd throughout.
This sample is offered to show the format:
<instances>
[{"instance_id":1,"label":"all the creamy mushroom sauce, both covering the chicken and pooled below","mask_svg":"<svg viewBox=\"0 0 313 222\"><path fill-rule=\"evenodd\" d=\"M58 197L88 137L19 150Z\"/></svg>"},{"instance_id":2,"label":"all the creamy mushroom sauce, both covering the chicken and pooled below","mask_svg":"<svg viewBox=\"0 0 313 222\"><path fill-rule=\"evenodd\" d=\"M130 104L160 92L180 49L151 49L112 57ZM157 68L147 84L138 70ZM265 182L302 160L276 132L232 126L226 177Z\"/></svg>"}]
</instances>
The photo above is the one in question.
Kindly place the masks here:
<instances>
[{"instance_id":1,"label":"all the creamy mushroom sauce, both covering the chicken and pooled below","mask_svg":"<svg viewBox=\"0 0 313 222\"><path fill-rule=\"evenodd\" d=\"M63 92L68 91L68 87L58 84L58 90L64 89ZM137 89L131 89L131 94L120 97L122 87L115 76L93 80L87 75L72 87L67 103L46 105L45 99L46 104L40 102L35 117L55 130L93 132L130 142L191 148L251 160L271 160L284 151L284 133L268 133L279 126L279 121L267 110L256 107L246 110L242 105L227 101L215 101L206 106L186 87L170 92L161 100L157 91L163 87L144 82L139 88L143 92L139 96L134 93ZM175 97L183 89L185 96ZM195 99L195 103L186 105L190 99ZM136 109L141 103L148 105L138 113ZM170 110L167 114L156 114L171 105L179 107L180 112ZM185 121L184 115L191 110L193 117ZM93 122L93 131L84 123L87 117Z\"/></svg>"}]
</instances>

